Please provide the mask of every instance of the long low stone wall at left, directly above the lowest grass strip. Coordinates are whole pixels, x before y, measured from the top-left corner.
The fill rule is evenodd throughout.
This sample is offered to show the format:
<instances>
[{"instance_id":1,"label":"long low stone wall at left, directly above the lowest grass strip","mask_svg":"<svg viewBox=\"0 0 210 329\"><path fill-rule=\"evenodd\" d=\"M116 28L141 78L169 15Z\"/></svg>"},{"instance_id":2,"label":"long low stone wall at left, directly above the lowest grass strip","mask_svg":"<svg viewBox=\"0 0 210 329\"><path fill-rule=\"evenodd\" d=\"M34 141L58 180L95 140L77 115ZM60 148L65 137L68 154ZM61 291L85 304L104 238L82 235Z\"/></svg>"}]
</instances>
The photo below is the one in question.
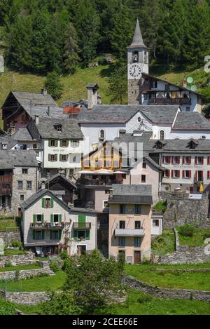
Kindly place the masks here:
<instances>
[{"instance_id":1,"label":"long low stone wall at left, directly above the lowest grass strip","mask_svg":"<svg viewBox=\"0 0 210 329\"><path fill-rule=\"evenodd\" d=\"M0 273L0 280L14 280L16 278L16 271L6 271ZM50 267L43 267L42 269L21 269L18 274L18 279L34 278L41 275L53 275L54 272Z\"/></svg>"}]
</instances>

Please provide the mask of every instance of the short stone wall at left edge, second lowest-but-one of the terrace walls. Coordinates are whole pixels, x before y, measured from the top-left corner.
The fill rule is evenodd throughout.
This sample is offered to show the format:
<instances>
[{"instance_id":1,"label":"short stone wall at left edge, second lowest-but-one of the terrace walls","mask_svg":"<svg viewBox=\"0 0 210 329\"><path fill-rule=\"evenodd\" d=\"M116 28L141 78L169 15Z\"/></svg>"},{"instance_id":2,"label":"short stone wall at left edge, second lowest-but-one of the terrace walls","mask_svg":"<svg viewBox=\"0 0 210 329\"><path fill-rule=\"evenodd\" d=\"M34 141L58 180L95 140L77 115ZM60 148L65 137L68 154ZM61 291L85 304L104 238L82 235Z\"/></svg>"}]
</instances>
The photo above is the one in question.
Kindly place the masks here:
<instances>
[{"instance_id":1,"label":"short stone wall at left edge, second lowest-but-one of the terrace walls","mask_svg":"<svg viewBox=\"0 0 210 329\"><path fill-rule=\"evenodd\" d=\"M8 262L13 265L33 264L35 262L35 254L29 252L25 255L0 256L0 267L3 267Z\"/></svg>"}]
</instances>

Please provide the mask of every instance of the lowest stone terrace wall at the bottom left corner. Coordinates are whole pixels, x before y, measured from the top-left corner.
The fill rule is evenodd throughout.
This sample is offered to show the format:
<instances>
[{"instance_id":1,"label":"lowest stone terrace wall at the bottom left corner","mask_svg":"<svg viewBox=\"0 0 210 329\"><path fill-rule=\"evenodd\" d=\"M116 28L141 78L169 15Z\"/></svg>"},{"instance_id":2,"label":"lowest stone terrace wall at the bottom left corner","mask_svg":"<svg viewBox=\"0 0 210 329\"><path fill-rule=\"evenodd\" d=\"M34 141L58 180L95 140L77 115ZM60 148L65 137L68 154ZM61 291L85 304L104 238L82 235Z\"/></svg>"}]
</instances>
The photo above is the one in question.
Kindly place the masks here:
<instances>
[{"instance_id":1,"label":"lowest stone terrace wall at the bottom left corner","mask_svg":"<svg viewBox=\"0 0 210 329\"><path fill-rule=\"evenodd\" d=\"M31 293L5 293L3 290L0 290L0 295L9 302L16 304L35 305L49 300L48 293L45 291Z\"/></svg>"}]
</instances>

